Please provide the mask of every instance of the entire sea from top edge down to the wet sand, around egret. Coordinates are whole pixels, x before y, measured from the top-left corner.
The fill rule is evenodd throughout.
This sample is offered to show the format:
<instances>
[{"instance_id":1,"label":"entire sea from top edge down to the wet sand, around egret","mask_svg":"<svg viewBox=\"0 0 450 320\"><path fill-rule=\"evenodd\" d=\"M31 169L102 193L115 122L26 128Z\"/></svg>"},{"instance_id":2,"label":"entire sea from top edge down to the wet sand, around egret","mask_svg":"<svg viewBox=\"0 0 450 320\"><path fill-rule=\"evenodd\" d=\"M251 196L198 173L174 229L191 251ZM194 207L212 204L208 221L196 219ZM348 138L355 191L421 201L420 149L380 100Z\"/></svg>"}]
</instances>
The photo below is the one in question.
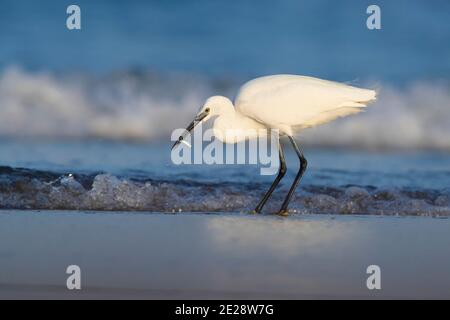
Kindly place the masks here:
<instances>
[{"instance_id":1,"label":"entire sea from top edge down to the wet sand, around egret","mask_svg":"<svg viewBox=\"0 0 450 320\"><path fill-rule=\"evenodd\" d=\"M0 208L253 209L258 166L175 166L170 134L210 95L274 73L376 88L358 116L302 132L292 212L450 214L450 3L0 1ZM278 209L297 163L268 203Z\"/></svg>"}]
</instances>

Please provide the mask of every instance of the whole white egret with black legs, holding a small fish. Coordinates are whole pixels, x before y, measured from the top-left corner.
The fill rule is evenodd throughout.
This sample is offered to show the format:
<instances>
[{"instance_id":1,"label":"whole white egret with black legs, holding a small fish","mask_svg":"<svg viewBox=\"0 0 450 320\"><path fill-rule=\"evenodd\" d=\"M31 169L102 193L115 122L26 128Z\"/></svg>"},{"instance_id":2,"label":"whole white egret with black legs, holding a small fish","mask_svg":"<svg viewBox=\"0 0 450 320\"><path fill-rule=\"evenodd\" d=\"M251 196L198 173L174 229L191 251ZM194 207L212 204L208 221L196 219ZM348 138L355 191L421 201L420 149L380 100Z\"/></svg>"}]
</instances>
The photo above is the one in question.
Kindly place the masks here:
<instances>
[{"instance_id":1,"label":"whole white egret with black legs, holding a small fish","mask_svg":"<svg viewBox=\"0 0 450 320\"><path fill-rule=\"evenodd\" d=\"M343 83L299 75L272 75L245 83L236 96L235 103L226 97L213 96L206 100L185 135L200 123L213 119L216 138L223 142L237 142L249 138L258 129L277 129L280 136L288 136L299 160L300 169L281 206L280 215L287 215L288 205L306 170L307 161L294 136L299 131L315 127L361 112L376 99L376 91L349 86ZM227 132L225 135L224 132ZM234 132L230 135L230 132ZM181 136L172 148L184 140ZM252 138L252 137L250 137ZM261 212L272 192L286 173L286 162L281 143L278 144L280 168L269 190L255 208Z\"/></svg>"}]
</instances>

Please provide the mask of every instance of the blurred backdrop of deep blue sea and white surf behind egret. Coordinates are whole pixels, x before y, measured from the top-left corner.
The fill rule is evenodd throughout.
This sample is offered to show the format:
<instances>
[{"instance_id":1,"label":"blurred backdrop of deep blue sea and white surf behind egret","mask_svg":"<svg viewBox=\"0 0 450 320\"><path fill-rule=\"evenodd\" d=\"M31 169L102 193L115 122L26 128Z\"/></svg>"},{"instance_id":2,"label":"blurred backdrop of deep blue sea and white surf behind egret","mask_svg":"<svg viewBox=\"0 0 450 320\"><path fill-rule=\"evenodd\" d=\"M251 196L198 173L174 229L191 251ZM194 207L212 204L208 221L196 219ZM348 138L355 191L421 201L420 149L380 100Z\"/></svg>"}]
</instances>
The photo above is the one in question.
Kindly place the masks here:
<instances>
[{"instance_id":1,"label":"blurred backdrop of deep blue sea and white surf behind egret","mask_svg":"<svg viewBox=\"0 0 450 320\"><path fill-rule=\"evenodd\" d=\"M167 141L212 94L292 73L380 90L309 145L450 150L450 3L0 1L0 137Z\"/></svg>"}]
</instances>

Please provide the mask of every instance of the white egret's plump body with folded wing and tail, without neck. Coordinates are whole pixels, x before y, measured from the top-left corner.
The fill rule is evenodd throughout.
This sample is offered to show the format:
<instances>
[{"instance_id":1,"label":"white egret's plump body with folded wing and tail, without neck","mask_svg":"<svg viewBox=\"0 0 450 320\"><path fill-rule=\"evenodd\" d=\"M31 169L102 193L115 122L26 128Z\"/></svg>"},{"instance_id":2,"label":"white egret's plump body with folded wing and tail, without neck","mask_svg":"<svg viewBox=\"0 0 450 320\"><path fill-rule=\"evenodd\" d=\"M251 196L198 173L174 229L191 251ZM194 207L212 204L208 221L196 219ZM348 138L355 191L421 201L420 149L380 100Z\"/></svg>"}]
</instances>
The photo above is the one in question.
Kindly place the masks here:
<instances>
[{"instance_id":1,"label":"white egret's plump body with folded wing and tail, without neck","mask_svg":"<svg viewBox=\"0 0 450 320\"><path fill-rule=\"evenodd\" d=\"M295 130L358 113L375 98L374 90L312 77L274 75L244 84L235 106L241 114L272 128Z\"/></svg>"}]
</instances>

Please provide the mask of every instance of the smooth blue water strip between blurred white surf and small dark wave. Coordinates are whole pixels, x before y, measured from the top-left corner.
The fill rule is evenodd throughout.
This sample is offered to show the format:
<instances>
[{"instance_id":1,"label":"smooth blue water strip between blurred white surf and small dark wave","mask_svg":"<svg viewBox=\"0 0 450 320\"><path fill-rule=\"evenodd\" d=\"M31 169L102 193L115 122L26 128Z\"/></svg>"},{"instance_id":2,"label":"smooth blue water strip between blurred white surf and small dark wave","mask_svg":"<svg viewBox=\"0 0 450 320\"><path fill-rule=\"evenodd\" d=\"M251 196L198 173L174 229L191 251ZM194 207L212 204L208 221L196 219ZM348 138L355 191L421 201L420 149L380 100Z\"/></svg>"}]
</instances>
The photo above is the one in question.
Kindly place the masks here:
<instances>
[{"instance_id":1,"label":"smooth blue water strip between blurred white surf and small dark wave","mask_svg":"<svg viewBox=\"0 0 450 320\"><path fill-rule=\"evenodd\" d=\"M175 165L170 143L107 141L0 141L0 166L55 173L107 172L125 178L192 183L268 183L274 176L260 175L263 165ZM298 160L286 144L289 171L297 173ZM308 185L445 190L450 188L450 154L433 151L367 152L305 147L309 160L304 182ZM274 157L274 166L278 159ZM267 167L267 165L264 165ZM289 181L286 181L289 185ZM450 191L450 189L449 189Z\"/></svg>"}]
</instances>

